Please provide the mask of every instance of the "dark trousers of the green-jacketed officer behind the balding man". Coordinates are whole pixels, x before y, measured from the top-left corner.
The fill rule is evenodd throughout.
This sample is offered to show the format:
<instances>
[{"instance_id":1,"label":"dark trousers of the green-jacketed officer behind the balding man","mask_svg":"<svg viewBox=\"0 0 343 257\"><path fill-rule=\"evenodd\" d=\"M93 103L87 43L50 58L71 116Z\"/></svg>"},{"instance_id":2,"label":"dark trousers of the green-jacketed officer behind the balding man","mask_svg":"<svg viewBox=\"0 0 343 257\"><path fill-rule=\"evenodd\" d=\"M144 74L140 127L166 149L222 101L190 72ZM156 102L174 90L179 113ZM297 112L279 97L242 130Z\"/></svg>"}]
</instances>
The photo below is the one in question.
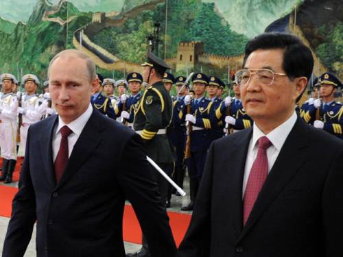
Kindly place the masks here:
<instances>
[{"instance_id":1,"label":"dark trousers of the green-jacketed officer behind the balding man","mask_svg":"<svg viewBox=\"0 0 343 257\"><path fill-rule=\"evenodd\" d=\"M169 177L171 177L171 173L173 173L173 163L157 163L158 167L160 167ZM153 168L154 169L154 168ZM156 170L155 170L156 171ZM160 174L158 171L154 172L154 180L158 185L158 191L161 194L161 201L164 206L167 203L168 197L168 189L169 189L169 182ZM147 245L147 238L142 234L142 249L141 251L149 253L149 246Z\"/></svg>"}]
</instances>

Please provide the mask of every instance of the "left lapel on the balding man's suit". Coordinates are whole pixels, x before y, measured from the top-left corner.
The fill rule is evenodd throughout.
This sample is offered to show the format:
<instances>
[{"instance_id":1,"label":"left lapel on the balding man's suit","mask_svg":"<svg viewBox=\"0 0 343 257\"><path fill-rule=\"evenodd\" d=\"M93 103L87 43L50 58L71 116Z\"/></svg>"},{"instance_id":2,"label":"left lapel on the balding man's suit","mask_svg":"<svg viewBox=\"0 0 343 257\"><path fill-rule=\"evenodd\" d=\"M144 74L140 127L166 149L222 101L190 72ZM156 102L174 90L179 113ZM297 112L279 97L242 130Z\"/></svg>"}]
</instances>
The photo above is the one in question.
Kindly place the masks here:
<instances>
[{"instance_id":1,"label":"left lapel on the balding man's suit","mask_svg":"<svg viewBox=\"0 0 343 257\"><path fill-rule=\"evenodd\" d=\"M44 132L40 137L40 147L42 149L42 154L46 154L46 157L43 158L43 165L45 167L47 179L49 183L54 188L56 186L56 177L54 171L54 162L52 160L52 138L54 133L54 127L58 121L58 115L51 117L49 119L48 125L44 128Z\"/></svg>"}]
</instances>

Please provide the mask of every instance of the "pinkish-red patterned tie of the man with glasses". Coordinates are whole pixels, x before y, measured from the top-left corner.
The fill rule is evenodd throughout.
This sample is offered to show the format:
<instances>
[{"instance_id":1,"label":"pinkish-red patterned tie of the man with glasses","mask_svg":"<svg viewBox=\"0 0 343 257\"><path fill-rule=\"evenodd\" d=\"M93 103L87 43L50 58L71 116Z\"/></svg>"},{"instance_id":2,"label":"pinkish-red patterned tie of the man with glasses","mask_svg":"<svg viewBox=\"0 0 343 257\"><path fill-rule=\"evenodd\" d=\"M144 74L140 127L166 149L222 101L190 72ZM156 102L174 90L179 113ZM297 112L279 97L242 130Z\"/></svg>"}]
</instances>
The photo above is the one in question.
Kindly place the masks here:
<instances>
[{"instance_id":1,"label":"pinkish-red patterned tie of the man with glasses","mask_svg":"<svg viewBox=\"0 0 343 257\"><path fill-rule=\"evenodd\" d=\"M250 215L252 207L255 204L259 191L265 182L268 175L268 158L267 149L272 145L270 140L263 136L259 138L259 150L257 151L257 157L252 164L248 183L246 184L246 191L243 199L243 224L246 225L246 221Z\"/></svg>"}]
</instances>

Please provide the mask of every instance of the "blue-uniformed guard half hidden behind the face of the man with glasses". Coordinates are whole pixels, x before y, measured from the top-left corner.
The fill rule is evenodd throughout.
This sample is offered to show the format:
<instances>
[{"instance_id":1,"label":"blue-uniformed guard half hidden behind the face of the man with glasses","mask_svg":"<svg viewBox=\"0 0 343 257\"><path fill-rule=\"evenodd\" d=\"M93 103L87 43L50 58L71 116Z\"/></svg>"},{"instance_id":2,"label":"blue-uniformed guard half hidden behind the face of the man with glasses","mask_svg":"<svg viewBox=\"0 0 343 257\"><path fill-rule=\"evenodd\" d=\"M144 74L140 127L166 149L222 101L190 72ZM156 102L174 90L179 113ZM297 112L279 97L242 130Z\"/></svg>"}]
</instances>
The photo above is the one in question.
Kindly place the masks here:
<instances>
[{"instance_id":1,"label":"blue-uniformed guard half hidden behind the face of the man with glasses","mask_svg":"<svg viewBox=\"0 0 343 257\"><path fill-rule=\"evenodd\" d=\"M228 130L232 129L233 132L244 130L252 126L252 119L246 114L241 103L241 92L239 85L235 82L233 77L233 92L235 97L226 97L220 104L219 108L215 110L215 117L218 121L225 117L225 123L228 124ZM228 131L226 134L230 134Z\"/></svg>"}]
</instances>

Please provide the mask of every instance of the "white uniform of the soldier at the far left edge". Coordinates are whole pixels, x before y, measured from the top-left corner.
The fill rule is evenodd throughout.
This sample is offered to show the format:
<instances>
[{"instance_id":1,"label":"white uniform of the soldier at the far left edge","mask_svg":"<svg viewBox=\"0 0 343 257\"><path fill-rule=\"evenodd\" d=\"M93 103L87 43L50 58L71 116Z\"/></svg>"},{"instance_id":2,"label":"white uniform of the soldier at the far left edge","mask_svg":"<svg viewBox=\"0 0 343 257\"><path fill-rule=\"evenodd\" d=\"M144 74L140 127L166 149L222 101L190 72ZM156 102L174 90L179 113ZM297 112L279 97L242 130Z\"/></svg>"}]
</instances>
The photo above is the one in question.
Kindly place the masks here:
<instances>
[{"instance_id":1,"label":"white uniform of the soldier at the far left edge","mask_svg":"<svg viewBox=\"0 0 343 257\"><path fill-rule=\"evenodd\" d=\"M18 100L12 93L1 95L0 99L0 148L1 156L16 160L16 130Z\"/></svg>"}]
</instances>

